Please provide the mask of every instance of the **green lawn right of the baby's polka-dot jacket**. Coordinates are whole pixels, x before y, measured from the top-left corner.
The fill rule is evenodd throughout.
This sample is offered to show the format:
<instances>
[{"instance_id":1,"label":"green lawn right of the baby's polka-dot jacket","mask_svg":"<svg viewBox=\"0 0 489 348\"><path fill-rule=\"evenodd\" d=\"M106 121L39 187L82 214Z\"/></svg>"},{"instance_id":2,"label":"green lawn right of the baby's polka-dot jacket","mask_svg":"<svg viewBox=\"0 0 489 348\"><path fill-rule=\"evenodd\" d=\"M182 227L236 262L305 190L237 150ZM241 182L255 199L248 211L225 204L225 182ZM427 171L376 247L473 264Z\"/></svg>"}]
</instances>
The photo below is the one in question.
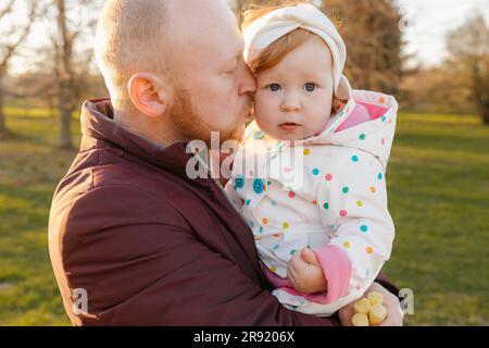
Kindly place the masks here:
<instances>
[{"instance_id":1,"label":"green lawn right of the baby's polka-dot jacket","mask_svg":"<svg viewBox=\"0 0 489 348\"><path fill-rule=\"evenodd\" d=\"M397 238L386 272L412 288L412 325L489 324L489 127L402 114L388 169Z\"/></svg>"}]
</instances>

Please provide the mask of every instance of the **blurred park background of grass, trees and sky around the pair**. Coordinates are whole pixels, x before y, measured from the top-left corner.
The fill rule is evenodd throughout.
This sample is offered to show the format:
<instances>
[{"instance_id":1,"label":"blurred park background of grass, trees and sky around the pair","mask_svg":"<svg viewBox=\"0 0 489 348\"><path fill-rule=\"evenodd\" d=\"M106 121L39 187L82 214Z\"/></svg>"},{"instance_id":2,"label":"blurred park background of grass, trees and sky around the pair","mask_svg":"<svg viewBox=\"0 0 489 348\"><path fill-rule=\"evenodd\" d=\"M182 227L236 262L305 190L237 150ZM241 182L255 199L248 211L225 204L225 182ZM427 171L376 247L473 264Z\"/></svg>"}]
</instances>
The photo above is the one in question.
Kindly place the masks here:
<instances>
[{"instance_id":1,"label":"blurred park background of grass, trees and sky around the pair","mask_svg":"<svg viewBox=\"0 0 489 348\"><path fill-rule=\"evenodd\" d=\"M228 2L239 21L247 1ZM413 291L406 324L488 325L489 0L313 2L338 23L353 87L401 105L385 272ZM47 223L82 102L108 96L91 49L102 5L0 1L0 325L70 324Z\"/></svg>"}]
</instances>

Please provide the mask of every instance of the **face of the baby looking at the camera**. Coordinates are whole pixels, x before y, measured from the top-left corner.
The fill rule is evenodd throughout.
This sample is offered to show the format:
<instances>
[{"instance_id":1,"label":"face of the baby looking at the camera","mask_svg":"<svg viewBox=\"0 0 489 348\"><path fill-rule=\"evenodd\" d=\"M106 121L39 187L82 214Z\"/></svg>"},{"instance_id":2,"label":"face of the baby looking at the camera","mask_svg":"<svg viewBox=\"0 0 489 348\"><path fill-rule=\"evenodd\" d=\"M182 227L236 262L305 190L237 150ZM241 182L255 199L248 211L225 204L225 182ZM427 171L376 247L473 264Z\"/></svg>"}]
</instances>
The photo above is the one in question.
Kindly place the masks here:
<instances>
[{"instance_id":1,"label":"face of the baby looking at the camera","mask_svg":"<svg viewBox=\"0 0 489 348\"><path fill-rule=\"evenodd\" d=\"M331 114L331 53L319 37L258 74L255 120L267 135L299 140L321 133Z\"/></svg>"}]
</instances>

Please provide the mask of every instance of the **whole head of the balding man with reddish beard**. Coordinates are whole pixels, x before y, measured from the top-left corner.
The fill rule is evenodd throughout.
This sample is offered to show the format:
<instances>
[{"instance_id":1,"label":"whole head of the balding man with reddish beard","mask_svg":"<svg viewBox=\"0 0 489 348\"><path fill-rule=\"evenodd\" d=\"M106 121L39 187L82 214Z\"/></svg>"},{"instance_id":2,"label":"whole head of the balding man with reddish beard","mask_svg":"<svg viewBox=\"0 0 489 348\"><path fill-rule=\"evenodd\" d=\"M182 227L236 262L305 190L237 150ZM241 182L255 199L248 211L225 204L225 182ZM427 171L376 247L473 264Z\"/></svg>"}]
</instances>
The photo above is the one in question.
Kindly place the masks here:
<instances>
[{"instance_id":1,"label":"whole head of the balding man with reddish beard","mask_svg":"<svg viewBox=\"0 0 489 348\"><path fill-rule=\"evenodd\" d=\"M226 0L108 0L95 49L114 120L133 133L155 144L242 133L255 80Z\"/></svg>"}]
</instances>

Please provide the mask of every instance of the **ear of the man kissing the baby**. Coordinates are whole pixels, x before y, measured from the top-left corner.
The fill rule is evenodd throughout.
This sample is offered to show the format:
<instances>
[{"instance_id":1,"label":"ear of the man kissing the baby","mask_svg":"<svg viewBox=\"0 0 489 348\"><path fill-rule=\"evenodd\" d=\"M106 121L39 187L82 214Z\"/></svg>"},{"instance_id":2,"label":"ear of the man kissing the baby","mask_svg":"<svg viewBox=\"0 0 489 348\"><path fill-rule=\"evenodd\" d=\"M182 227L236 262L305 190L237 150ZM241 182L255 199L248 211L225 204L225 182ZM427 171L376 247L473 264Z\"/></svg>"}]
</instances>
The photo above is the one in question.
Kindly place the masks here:
<instances>
[{"instance_id":1,"label":"ear of the man kissing the baby","mask_svg":"<svg viewBox=\"0 0 489 348\"><path fill-rule=\"evenodd\" d=\"M127 84L130 100L143 114L158 117L165 113L170 103L170 86L161 78L137 73Z\"/></svg>"}]
</instances>

